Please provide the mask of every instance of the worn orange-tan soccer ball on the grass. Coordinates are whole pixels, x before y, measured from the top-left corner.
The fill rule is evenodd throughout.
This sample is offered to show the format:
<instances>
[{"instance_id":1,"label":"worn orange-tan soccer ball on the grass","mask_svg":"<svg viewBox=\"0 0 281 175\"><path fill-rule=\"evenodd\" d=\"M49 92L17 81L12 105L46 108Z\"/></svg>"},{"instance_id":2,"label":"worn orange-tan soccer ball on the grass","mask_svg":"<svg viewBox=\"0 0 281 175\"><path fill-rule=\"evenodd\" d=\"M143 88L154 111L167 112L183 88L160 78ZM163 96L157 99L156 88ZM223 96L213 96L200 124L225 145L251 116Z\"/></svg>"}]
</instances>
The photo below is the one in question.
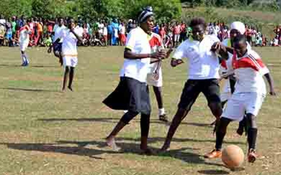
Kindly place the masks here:
<instances>
[{"instance_id":1,"label":"worn orange-tan soccer ball on the grass","mask_svg":"<svg viewBox=\"0 0 281 175\"><path fill-rule=\"evenodd\" d=\"M240 167L244 162L244 152L236 145L229 145L222 150L222 162L230 169Z\"/></svg>"}]
</instances>

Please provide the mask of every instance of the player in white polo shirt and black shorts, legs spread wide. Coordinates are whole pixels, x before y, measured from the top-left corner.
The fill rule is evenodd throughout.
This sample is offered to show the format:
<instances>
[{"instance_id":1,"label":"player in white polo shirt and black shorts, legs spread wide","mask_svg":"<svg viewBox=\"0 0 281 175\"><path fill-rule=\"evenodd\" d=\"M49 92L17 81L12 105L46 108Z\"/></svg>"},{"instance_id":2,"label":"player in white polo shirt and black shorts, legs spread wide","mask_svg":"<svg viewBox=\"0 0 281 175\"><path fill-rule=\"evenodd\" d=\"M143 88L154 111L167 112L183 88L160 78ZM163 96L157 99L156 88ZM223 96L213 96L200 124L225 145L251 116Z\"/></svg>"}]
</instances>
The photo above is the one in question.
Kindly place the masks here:
<instances>
[{"instance_id":1,"label":"player in white polo shirt and black shorts, legs spread wide","mask_svg":"<svg viewBox=\"0 0 281 175\"><path fill-rule=\"evenodd\" d=\"M189 25L192 36L181 43L172 56L171 65L175 67L183 63L183 58L189 58L189 77L184 85L177 112L172 120L167 138L160 152L165 152L181 121L190 111L198 95L203 92L213 115L219 119L222 114L219 86L219 58L227 59L226 50L221 48L219 39L214 35L204 35L206 23L203 18L193 18Z\"/></svg>"}]
</instances>

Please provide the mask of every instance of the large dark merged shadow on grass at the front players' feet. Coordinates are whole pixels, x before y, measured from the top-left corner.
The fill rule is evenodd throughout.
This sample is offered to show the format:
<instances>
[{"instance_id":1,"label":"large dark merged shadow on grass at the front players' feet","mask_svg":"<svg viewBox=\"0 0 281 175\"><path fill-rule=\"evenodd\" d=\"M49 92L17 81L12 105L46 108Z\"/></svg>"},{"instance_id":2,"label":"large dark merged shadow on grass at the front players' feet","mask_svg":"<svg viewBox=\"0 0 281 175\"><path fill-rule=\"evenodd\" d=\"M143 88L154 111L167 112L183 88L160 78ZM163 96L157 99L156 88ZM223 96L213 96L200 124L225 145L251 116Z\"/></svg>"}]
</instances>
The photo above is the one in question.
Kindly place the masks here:
<instances>
[{"instance_id":1,"label":"large dark merged shadow on grass at the front players' feet","mask_svg":"<svg viewBox=\"0 0 281 175\"><path fill-rule=\"evenodd\" d=\"M77 144L78 146L61 146L61 144ZM107 154L117 154L117 153L133 153L141 154L139 145L136 143L119 143L122 151L114 150L104 150L104 149L93 149L85 148L88 144L97 145L98 148L104 148L106 143L103 141L57 141L57 143L0 143L1 145L6 145L9 149L25 150L25 151L41 151L48 153L63 153L70 155L88 156L95 159L103 160L105 158L99 157L104 153ZM157 148L153 148L156 150ZM223 167L223 164L205 162L203 157L199 154L186 152L186 150L192 150L192 148L181 148L176 150L170 150L167 153L161 153L156 156L160 157L172 157L175 159L182 160L184 162L192 164L207 164Z\"/></svg>"}]
</instances>

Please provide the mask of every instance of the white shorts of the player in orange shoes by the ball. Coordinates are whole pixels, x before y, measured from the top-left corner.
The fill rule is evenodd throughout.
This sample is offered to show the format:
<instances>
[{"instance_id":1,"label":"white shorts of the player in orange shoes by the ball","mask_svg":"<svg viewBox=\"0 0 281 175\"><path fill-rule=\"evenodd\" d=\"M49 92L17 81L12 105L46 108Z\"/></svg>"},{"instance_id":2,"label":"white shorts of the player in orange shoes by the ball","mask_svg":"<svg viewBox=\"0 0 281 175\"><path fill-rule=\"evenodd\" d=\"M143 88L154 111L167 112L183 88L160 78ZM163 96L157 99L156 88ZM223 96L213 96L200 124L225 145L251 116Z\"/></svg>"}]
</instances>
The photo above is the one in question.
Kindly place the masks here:
<instances>
[{"instance_id":1,"label":"white shorts of the player in orange shoes by the ball","mask_svg":"<svg viewBox=\"0 0 281 175\"><path fill-rule=\"evenodd\" d=\"M257 116L264 98L265 95L258 94L257 92L234 92L227 101L227 106L222 113L222 117L241 121L245 111L246 113Z\"/></svg>"}]
</instances>

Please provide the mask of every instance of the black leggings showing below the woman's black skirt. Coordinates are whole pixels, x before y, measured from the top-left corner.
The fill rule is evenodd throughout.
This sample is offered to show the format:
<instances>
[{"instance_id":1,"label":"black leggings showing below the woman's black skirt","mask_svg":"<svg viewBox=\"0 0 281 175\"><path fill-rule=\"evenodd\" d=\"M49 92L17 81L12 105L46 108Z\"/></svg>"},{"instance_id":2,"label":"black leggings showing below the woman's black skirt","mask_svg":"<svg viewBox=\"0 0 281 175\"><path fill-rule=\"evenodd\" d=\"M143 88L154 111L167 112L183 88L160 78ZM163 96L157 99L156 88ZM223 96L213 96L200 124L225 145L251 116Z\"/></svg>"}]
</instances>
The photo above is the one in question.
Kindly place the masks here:
<instances>
[{"instance_id":1,"label":"black leggings showing below the woman's black skirt","mask_svg":"<svg viewBox=\"0 0 281 175\"><path fill-rule=\"evenodd\" d=\"M133 112L133 111L128 111L127 113L125 113L122 118L121 121L128 124L134 117L136 117L138 115L138 112ZM148 132L149 132L149 124L150 124L150 114L141 114L140 115L140 132L141 132L141 136L148 136Z\"/></svg>"}]
</instances>

